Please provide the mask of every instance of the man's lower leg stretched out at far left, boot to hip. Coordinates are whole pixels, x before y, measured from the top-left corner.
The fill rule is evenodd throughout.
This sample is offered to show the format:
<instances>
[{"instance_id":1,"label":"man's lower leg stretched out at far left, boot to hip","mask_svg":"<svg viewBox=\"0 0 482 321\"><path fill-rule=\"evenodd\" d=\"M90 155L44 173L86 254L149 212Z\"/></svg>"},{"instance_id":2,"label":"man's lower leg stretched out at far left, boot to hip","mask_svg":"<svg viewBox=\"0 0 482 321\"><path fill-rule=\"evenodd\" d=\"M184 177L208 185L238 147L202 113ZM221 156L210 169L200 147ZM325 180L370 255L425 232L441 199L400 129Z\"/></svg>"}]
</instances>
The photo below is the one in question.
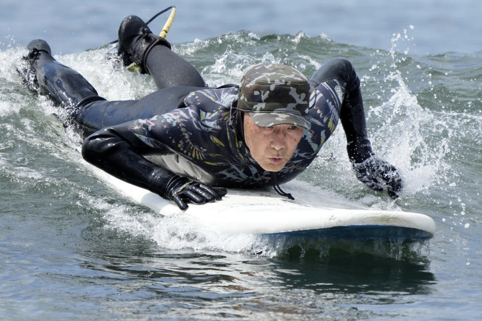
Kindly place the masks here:
<instances>
[{"instance_id":1,"label":"man's lower leg stretched out at far left, boot to hip","mask_svg":"<svg viewBox=\"0 0 482 321\"><path fill-rule=\"evenodd\" d=\"M75 70L60 64L43 40L34 40L19 70L28 85L41 95L48 95L71 111L71 120L83 136L106 127L183 107L182 98L198 87L178 86L158 90L140 100L107 101Z\"/></svg>"}]
</instances>

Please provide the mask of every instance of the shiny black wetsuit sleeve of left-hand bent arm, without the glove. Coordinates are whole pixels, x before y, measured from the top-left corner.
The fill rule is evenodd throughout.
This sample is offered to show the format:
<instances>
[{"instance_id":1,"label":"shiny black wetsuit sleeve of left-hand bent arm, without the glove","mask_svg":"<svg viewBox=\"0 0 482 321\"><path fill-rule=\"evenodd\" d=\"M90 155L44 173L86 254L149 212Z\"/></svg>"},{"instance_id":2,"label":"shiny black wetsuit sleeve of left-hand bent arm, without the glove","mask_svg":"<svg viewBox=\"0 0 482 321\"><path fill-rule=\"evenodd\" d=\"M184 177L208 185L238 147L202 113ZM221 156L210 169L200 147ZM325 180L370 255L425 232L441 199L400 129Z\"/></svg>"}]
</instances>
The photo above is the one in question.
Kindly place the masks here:
<instances>
[{"instance_id":1,"label":"shiny black wetsuit sleeve of left-hand bent arm, without the glove","mask_svg":"<svg viewBox=\"0 0 482 321\"><path fill-rule=\"evenodd\" d=\"M177 176L142 156L150 152L150 147L130 130L131 123L106 127L88 136L82 145L82 157L118 179L164 197L169 181Z\"/></svg>"}]
</instances>

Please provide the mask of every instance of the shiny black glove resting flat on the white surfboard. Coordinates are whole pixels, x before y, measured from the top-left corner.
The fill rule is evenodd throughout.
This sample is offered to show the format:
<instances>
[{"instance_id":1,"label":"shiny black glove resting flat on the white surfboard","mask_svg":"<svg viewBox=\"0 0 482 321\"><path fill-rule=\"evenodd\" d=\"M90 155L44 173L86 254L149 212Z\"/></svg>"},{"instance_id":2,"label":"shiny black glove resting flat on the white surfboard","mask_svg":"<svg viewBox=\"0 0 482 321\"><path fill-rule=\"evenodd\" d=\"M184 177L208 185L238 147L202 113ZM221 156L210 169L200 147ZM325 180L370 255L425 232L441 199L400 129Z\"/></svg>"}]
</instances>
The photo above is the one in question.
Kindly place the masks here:
<instances>
[{"instance_id":1,"label":"shiny black glove resting flat on the white surfboard","mask_svg":"<svg viewBox=\"0 0 482 321\"><path fill-rule=\"evenodd\" d=\"M181 210L185 210L188 207L186 202L196 204L214 202L220 200L226 193L227 190L224 188L210 187L176 175L167 184L164 197L176 203Z\"/></svg>"}]
</instances>

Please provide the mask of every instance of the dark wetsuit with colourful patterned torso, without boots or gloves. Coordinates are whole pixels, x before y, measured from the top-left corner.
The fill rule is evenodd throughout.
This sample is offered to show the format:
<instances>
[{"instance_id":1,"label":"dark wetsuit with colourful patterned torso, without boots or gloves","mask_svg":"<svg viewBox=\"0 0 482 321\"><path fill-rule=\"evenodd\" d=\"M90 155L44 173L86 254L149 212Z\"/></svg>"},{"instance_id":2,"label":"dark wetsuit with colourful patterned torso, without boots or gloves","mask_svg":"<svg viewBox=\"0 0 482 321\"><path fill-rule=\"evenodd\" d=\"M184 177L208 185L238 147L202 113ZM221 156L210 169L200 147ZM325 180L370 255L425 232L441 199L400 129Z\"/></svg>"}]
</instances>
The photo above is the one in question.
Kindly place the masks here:
<instances>
[{"instance_id":1,"label":"dark wetsuit with colourful patterned torso, without boots or gloves","mask_svg":"<svg viewBox=\"0 0 482 321\"><path fill-rule=\"evenodd\" d=\"M73 119L89 135L82 147L89 163L160 195L175 174L219 187L273 185L275 174L253 159L244 142L241 112L231 108L236 85L207 88L191 65L169 48L156 46L147 69L160 89L140 100L106 101L82 76L49 57L37 62L39 83L54 99L76 106ZM166 72L172 66L181 76ZM276 173L278 183L294 179L311 164L339 119L349 156L368 158L372 152L351 63L332 59L309 82L311 129Z\"/></svg>"}]
</instances>

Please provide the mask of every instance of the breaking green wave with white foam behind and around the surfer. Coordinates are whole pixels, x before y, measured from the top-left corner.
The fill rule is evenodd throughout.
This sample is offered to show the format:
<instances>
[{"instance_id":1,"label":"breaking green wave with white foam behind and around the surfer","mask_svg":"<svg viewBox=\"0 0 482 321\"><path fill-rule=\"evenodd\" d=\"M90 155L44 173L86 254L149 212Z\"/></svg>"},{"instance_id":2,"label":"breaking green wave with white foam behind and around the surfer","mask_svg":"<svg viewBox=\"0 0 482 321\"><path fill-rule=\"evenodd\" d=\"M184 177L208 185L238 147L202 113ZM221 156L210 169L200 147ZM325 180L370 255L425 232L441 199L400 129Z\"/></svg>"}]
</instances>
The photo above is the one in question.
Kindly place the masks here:
<instances>
[{"instance_id":1,"label":"breaking green wave with white foam behind and around the surfer","mask_svg":"<svg viewBox=\"0 0 482 321\"><path fill-rule=\"evenodd\" d=\"M393 201L356 180L346 156L341 126L299 179L365 206L423 212L436 220L451 217L455 226L464 227L469 216L466 214L480 208L479 202L469 203L467 199L477 198L477 187L470 177L480 170L475 158L480 155L482 138L473 133L482 129L481 57L456 53L412 55L410 37L404 35L394 36L392 44L390 50L383 51L337 43L326 35L311 37L300 32L260 36L239 31L174 44L173 50L198 68L212 86L238 83L246 67L261 61L292 65L309 77L328 59L349 59L362 81L374 149L404 178L402 198ZM138 99L156 89L149 76L119 67L114 52L114 47L104 46L55 58L84 75L106 99ZM253 236L226 240L203 235L188 223L161 220L139 211L139 207L131 209L132 203L106 192L105 186L88 174L78 153L80 137L72 130L65 134L57 117L52 116L65 119L68 115L45 97L30 92L17 74L24 54L23 47L0 52L2 180L33 186L54 182L42 185L48 190L67 182L62 183L64 189L70 190L66 197L78 199L79 204L100 215L104 228L143 235L166 248L249 253L263 248L268 255L280 250ZM59 144L62 148L57 147ZM50 162L52 156L56 162ZM27 159L31 163L23 164ZM59 174L61 169L72 168L80 169L74 178ZM100 194L82 189L84 194L79 196L76 190L82 185ZM43 198L35 202L42 203ZM105 202L105 198L113 201Z\"/></svg>"}]
</instances>

